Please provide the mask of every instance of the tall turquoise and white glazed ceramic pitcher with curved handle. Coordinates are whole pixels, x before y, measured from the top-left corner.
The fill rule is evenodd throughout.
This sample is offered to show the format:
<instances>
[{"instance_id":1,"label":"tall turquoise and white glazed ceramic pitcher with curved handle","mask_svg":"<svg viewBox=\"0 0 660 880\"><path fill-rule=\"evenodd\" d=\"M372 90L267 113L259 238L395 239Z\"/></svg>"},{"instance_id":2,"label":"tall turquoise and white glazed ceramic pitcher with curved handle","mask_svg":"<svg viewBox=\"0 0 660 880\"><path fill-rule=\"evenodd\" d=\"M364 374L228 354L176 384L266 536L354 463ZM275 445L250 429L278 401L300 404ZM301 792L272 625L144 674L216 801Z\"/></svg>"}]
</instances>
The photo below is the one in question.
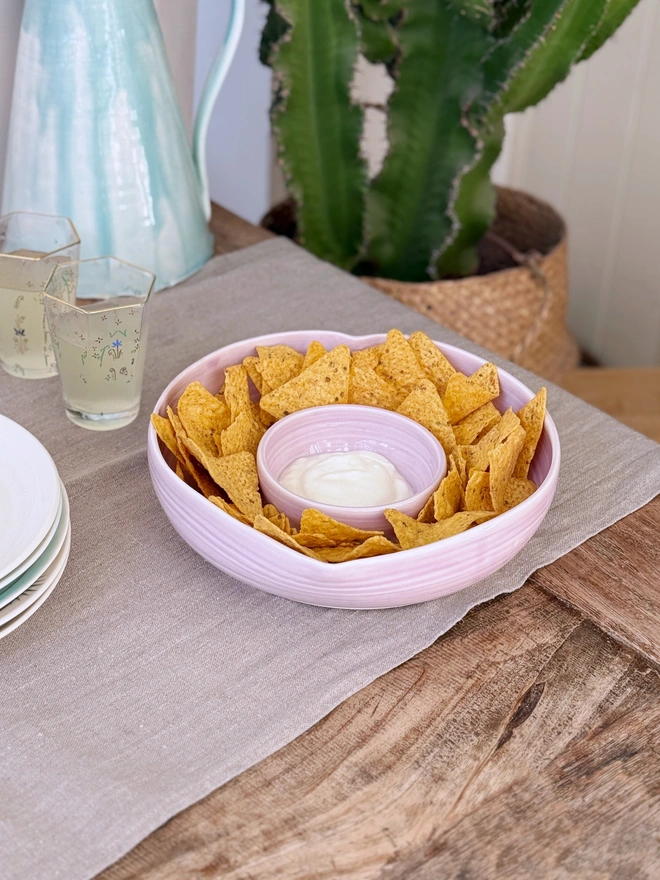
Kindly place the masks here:
<instances>
[{"instance_id":1,"label":"tall turquoise and white glazed ceramic pitcher with curved handle","mask_svg":"<svg viewBox=\"0 0 660 880\"><path fill-rule=\"evenodd\" d=\"M121 257L158 288L211 256L205 143L243 28L231 0L192 151L152 0L26 0L0 214L70 217L83 258Z\"/></svg>"}]
</instances>

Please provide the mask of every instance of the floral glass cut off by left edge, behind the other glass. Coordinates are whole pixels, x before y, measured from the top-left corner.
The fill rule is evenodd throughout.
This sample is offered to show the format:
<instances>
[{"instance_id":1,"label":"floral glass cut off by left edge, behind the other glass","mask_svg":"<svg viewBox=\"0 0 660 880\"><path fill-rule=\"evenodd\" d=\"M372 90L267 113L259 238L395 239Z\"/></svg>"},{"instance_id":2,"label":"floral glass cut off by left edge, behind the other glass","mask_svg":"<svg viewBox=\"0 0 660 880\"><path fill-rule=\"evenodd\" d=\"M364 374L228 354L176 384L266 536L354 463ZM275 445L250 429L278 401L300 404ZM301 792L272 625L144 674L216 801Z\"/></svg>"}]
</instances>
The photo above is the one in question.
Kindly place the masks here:
<instances>
[{"instance_id":1,"label":"floral glass cut off by left edge, behind the other glass","mask_svg":"<svg viewBox=\"0 0 660 880\"><path fill-rule=\"evenodd\" d=\"M0 217L0 364L13 376L57 375L43 291L53 267L79 255L78 233L66 217Z\"/></svg>"}]
</instances>

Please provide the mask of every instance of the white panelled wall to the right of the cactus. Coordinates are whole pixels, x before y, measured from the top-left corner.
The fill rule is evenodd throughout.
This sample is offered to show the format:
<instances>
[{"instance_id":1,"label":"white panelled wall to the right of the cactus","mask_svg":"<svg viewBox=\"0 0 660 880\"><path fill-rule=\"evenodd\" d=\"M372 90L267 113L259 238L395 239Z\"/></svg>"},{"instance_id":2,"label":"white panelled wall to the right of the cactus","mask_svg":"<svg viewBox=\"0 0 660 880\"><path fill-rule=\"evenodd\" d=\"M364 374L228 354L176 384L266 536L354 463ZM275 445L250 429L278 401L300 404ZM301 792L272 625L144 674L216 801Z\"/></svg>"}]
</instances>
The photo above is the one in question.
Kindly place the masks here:
<instances>
[{"instance_id":1,"label":"white panelled wall to the right of the cactus","mask_svg":"<svg viewBox=\"0 0 660 880\"><path fill-rule=\"evenodd\" d=\"M569 324L602 363L660 364L660 0L538 107L511 117L498 179L569 227Z\"/></svg>"}]
</instances>

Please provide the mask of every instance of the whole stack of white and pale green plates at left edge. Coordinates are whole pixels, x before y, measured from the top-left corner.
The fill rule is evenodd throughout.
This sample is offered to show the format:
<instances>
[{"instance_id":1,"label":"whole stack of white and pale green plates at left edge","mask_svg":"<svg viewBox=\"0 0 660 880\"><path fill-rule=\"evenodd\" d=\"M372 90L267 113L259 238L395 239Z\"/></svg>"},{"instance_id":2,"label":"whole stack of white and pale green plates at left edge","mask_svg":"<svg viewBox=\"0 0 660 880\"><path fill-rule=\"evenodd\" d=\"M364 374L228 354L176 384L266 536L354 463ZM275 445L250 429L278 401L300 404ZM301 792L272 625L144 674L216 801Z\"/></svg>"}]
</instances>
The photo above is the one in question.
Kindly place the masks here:
<instances>
[{"instance_id":1,"label":"whole stack of white and pale green plates at left edge","mask_svg":"<svg viewBox=\"0 0 660 880\"><path fill-rule=\"evenodd\" d=\"M50 596L70 547L69 499L53 459L0 416L0 639Z\"/></svg>"}]
</instances>

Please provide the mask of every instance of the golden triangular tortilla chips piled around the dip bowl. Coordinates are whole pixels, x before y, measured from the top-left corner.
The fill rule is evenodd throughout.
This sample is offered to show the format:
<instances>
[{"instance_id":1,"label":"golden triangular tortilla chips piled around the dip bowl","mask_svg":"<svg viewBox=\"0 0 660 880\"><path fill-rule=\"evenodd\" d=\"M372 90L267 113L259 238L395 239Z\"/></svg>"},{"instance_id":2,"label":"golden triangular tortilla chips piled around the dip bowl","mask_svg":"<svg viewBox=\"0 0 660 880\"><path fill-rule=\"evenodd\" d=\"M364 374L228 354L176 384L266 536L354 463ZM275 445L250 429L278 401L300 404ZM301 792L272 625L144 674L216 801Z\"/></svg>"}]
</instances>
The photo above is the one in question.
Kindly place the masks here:
<instances>
[{"instance_id":1,"label":"golden triangular tortilla chips piled around the dip bowl","mask_svg":"<svg viewBox=\"0 0 660 880\"><path fill-rule=\"evenodd\" d=\"M193 382L176 413L168 407L167 418L154 413L151 420L178 476L213 504L299 553L345 562L457 535L534 492L527 475L543 430L546 390L504 414L492 403L499 393L494 364L465 376L426 334L406 339L391 330L385 342L353 353L346 345L326 351L320 342L304 355L286 345L257 346L255 356L227 368L219 393ZM268 427L297 410L333 403L402 413L431 431L447 454L447 475L416 519L386 511L396 542L314 509L296 529L272 504L263 505L255 455Z\"/></svg>"}]
</instances>

